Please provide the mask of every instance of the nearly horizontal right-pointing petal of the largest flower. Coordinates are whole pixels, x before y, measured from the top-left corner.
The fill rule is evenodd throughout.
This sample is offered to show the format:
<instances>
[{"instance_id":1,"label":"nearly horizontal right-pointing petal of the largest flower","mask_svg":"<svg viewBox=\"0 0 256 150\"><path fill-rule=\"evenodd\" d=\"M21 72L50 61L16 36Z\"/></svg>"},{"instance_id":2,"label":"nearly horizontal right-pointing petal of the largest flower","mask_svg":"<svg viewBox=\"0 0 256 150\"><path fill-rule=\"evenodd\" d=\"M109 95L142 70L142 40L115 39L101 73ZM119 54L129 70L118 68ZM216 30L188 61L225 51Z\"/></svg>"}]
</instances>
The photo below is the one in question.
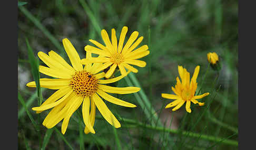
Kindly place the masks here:
<instances>
[{"instance_id":1,"label":"nearly horizontal right-pointing petal of the largest flower","mask_svg":"<svg viewBox=\"0 0 256 150\"><path fill-rule=\"evenodd\" d=\"M141 88L138 87L125 87L125 88L117 88L117 87L110 87L107 85L99 84L99 89L102 89L108 93L116 93L116 94L130 94L140 91Z\"/></svg>"}]
</instances>

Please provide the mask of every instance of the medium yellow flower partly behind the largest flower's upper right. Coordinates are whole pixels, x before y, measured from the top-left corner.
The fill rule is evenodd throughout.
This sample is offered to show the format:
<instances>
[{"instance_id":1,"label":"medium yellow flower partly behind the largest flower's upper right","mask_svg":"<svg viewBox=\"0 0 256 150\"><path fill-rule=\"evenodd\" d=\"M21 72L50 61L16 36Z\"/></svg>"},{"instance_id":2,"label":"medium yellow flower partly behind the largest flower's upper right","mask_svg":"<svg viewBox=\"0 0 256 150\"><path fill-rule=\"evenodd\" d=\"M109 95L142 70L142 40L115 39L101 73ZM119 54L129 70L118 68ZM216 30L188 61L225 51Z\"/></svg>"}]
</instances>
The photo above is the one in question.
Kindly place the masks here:
<instances>
[{"instance_id":1,"label":"medium yellow flower partly behind the largest flower's upper right","mask_svg":"<svg viewBox=\"0 0 256 150\"><path fill-rule=\"evenodd\" d=\"M136 40L137 36L139 35L139 32L137 31L134 31L131 34L130 38L127 40L126 44L124 45L124 39L125 39L127 30L128 28L126 26L122 28L120 39L117 45L115 29L112 29L111 41L106 30L103 29L101 31L101 36L106 46L103 46L99 42L90 39L89 41L91 41L94 45L96 45L99 48L96 48L90 45L87 45L84 47L84 50L86 52L96 53L97 55L103 56L103 58L98 57L98 58L82 59L82 63L86 64L86 63L92 63L92 62L102 62L103 65L100 68L98 68L98 70L102 70L108 67L110 68L106 72L106 75L105 75L106 78L110 78L117 67L119 68L121 74L126 74L125 68L135 73L138 72L138 70L131 65L145 67L146 62L142 60L137 60L137 59L142 58L146 55L149 55L150 51L147 50L149 49L149 47L147 47L147 45L143 45L135 49L143 39L143 37L140 37Z\"/></svg>"}]
</instances>

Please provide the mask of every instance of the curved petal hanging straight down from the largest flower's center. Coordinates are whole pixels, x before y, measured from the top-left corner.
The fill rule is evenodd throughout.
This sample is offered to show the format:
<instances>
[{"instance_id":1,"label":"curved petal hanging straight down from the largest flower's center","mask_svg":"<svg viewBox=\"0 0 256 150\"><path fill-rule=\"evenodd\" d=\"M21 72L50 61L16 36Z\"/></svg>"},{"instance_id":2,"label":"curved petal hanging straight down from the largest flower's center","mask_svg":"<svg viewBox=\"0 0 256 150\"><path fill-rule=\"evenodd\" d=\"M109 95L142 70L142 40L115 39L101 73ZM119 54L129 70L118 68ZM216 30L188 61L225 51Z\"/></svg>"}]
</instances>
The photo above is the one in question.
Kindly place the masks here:
<instances>
[{"instance_id":1,"label":"curved petal hanging straight down from the largest flower's center","mask_svg":"<svg viewBox=\"0 0 256 150\"><path fill-rule=\"evenodd\" d=\"M84 98L82 113L83 113L84 124L86 125L88 130L94 134L95 131L90 121L90 98L89 97Z\"/></svg>"}]
</instances>

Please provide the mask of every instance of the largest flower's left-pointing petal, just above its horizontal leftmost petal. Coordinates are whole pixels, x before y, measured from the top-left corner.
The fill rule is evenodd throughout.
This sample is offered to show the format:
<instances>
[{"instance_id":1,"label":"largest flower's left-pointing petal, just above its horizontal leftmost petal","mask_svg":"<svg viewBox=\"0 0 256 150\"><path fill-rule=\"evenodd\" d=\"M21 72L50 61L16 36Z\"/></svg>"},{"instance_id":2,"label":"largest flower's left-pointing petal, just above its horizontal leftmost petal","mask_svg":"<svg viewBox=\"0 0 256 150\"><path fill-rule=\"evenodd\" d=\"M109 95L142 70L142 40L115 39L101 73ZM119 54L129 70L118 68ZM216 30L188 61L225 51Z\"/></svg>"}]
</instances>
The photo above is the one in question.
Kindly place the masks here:
<instances>
[{"instance_id":1,"label":"largest flower's left-pointing petal, just above its horizontal leftmost petal","mask_svg":"<svg viewBox=\"0 0 256 150\"><path fill-rule=\"evenodd\" d=\"M54 78L62 78L62 79L72 79L71 74L67 74L66 72L60 72L52 68L39 66L39 72L46 74L47 76L51 76Z\"/></svg>"}]
</instances>

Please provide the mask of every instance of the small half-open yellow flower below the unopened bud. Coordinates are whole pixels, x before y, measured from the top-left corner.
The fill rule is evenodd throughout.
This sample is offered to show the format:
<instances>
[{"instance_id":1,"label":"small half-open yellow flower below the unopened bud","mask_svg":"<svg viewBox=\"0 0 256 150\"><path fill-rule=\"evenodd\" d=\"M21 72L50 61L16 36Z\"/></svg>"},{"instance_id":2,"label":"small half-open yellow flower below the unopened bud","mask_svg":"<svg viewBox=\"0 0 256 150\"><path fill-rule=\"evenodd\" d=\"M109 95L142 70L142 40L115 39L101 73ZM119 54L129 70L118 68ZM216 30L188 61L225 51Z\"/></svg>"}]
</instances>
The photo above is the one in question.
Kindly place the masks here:
<instances>
[{"instance_id":1,"label":"small half-open yellow flower below the unopened bud","mask_svg":"<svg viewBox=\"0 0 256 150\"><path fill-rule=\"evenodd\" d=\"M190 73L186 71L186 69L182 66L178 66L178 71L181 80L179 79L179 77L177 77L177 83L175 85L175 88L172 87L172 91L175 94L162 93L163 98L175 100L166 105L165 109L175 106L175 108L173 108L172 111L176 111L179 108L181 108L181 106L186 102L186 111L191 113L191 102L194 104L199 104L200 106L204 105L204 103L198 102L196 99L202 99L210 93L204 93L202 95L196 96L194 95L195 90L198 87L198 83L196 83L196 78L198 78L199 69L200 66L195 67L194 74L190 81Z\"/></svg>"}]
</instances>

